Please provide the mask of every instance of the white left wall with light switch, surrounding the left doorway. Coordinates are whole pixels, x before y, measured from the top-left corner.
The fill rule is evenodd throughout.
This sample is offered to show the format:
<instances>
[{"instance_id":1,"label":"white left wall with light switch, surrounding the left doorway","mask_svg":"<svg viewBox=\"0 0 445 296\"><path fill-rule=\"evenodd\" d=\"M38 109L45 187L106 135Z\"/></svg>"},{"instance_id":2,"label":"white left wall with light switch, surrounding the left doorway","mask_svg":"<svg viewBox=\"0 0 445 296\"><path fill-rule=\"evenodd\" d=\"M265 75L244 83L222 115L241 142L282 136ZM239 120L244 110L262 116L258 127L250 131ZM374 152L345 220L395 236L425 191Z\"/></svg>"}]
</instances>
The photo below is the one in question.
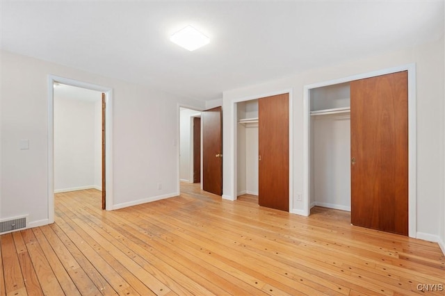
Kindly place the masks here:
<instances>
[{"instance_id":1,"label":"white left wall with light switch, surrounding the left doorway","mask_svg":"<svg viewBox=\"0 0 445 296\"><path fill-rule=\"evenodd\" d=\"M112 208L178 194L177 106L202 109L203 102L8 51L0 54L0 219L29 214L30 227L49 222L49 74L113 88ZM29 139L30 149L19 149L21 139Z\"/></svg>"}]
</instances>

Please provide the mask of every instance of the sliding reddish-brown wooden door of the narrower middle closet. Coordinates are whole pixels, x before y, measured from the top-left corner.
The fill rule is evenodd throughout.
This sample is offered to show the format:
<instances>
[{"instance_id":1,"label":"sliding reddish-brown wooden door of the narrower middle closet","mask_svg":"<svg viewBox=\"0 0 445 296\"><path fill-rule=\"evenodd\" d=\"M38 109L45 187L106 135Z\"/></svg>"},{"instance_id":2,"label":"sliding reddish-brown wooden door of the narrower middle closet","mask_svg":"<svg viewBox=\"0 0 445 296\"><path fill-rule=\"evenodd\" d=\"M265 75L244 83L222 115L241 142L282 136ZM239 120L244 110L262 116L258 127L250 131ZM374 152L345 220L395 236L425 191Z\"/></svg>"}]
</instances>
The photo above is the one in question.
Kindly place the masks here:
<instances>
[{"instance_id":1,"label":"sliding reddish-brown wooden door of the narrower middle closet","mask_svg":"<svg viewBox=\"0 0 445 296\"><path fill-rule=\"evenodd\" d=\"M289 94L258 100L260 206L289 211Z\"/></svg>"}]
</instances>

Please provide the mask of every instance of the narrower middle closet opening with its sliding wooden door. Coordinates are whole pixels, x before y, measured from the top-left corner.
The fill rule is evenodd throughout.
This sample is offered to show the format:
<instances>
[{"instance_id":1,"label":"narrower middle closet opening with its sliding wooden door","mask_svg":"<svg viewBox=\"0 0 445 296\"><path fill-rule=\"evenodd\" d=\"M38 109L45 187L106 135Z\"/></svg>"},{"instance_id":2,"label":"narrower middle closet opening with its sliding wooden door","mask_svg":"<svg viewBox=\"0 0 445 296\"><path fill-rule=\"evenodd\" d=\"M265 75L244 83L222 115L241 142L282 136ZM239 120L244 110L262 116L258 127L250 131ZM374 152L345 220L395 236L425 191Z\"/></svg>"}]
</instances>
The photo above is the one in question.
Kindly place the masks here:
<instances>
[{"instance_id":1,"label":"narrower middle closet opening with its sliding wooden door","mask_svg":"<svg viewBox=\"0 0 445 296\"><path fill-rule=\"evenodd\" d=\"M291 116L289 92L236 106L236 195L259 206L289 212Z\"/></svg>"}]
</instances>

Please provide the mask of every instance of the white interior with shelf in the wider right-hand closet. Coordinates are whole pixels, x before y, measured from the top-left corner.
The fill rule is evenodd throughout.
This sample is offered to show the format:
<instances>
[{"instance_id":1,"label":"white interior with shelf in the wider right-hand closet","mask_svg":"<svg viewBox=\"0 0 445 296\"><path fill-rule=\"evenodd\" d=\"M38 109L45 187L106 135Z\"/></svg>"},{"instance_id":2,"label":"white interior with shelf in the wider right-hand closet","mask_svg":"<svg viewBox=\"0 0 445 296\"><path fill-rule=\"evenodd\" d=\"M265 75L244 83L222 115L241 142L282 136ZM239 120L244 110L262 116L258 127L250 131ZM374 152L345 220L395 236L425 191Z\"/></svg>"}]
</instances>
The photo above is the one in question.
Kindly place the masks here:
<instances>
[{"instance_id":1,"label":"white interior with shelf in the wider right-hand closet","mask_svg":"<svg viewBox=\"0 0 445 296\"><path fill-rule=\"evenodd\" d=\"M350 83L309 92L310 201L350 211Z\"/></svg>"}]
</instances>

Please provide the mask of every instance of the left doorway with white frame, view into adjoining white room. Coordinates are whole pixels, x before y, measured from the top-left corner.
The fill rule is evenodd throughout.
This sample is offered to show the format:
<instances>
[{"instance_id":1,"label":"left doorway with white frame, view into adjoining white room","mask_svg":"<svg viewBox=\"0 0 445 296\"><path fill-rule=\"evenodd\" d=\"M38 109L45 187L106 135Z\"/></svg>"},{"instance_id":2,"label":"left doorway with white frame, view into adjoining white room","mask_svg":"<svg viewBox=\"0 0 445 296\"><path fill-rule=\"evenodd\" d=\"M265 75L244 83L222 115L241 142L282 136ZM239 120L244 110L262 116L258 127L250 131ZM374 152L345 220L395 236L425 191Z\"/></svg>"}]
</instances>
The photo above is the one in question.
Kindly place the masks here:
<instances>
[{"instance_id":1,"label":"left doorway with white frame, view into adjoining white room","mask_svg":"<svg viewBox=\"0 0 445 296\"><path fill-rule=\"evenodd\" d=\"M49 220L55 192L99 189L102 208L112 210L111 88L58 76L48 88Z\"/></svg>"}]
</instances>

